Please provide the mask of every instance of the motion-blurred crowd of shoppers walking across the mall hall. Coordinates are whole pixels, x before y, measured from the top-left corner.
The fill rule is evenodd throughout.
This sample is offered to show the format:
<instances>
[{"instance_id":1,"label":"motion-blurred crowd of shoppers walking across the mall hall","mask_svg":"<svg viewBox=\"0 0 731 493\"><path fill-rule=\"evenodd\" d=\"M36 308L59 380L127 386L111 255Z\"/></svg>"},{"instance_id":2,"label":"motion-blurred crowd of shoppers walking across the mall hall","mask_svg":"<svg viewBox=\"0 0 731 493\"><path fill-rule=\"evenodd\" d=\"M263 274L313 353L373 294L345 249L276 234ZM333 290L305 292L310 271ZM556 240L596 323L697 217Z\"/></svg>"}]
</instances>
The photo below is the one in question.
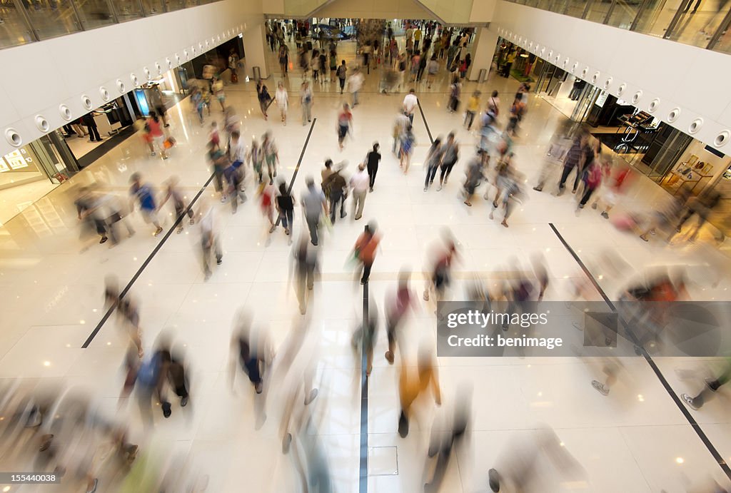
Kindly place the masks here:
<instances>
[{"instance_id":1,"label":"motion-blurred crowd of shoppers walking across the mall hall","mask_svg":"<svg viewBox=\"0 0 731 493\"><path fill-rule=\"evenodd\" d=\"M341 93L346 88L351 93L350 102L338 104L340 109L334 122L340 150L344 150L346 138L352 136L354 131L352 107L360 104L358 92L366 80L366 74L361 67L380 61L385 64L387 71L398 72L395 86L404 89L408 87L409 91L399 104L393 123L392 153L398 159L401 171L408 174L417 145L413 129L414 114L420 104L417 83L426 74L426 87L430 88L439 72L441 61L444 60L444 66L451 74L447 111L460 112L463 80L471 64L470 54L467 53L471 32L464 30L456 33L451 28L444 28L433 22L405 23L403 27L406 28L404 52L398 46L394 47L396 42L393 27L389 25L385 32L385 42L374 40L371 48L365 51L366 56L352 68L346 65L345 60L338 63L335 42L328 44L327 39L319 37L319 49L311 47L311 43L305 41L310 36L309 26L303 23L267 23L266 35L271 50L276 51L279 58L283 79L288 77L289 71L287 37L290 41L293 38L296 40L298 64L304 76L299 97L303 126L312 120L314 97L311 84L335 83L337 79ZM372 58L369 59L371 54ZM330 69L329 77L327 68ZM510 73L510 65L507 66L507 71ZM293 463L304 491L310 491L308 488L317 485L319 489L312 491L329 492L332 487L330 466L322 446L322 438L317 434L318 427L322 426L322 408L325 403L320 403L323 399L317 400L319 389L313 378L314 368L317 367L317 351L308 347L311 335L308 313L311 313L315 302L315 287L321 281L319 271L322 265L323 237L336 227L338 220L342 222L349 213L352 221L360 221L366 217L364 211L368 195L376 193L379 167L386 166L382 164L381 145L379 142L363 145L363 142L357 141L349 144L357 145L358 150L363 151L366 157L362 162L349 167L344 160L336 163L331 158L325 158L319 183L314 176L306 176L301 194L295 194L293 181L287 183L281 176L279 148L274 131L269 129L260 138L253 137L251 142L245 142L240 118L227 104L222 83L219 82L214 79L210 89L194 89L191 98L200 125L205 126L205 119L207 116L209 118L206 151L216 199L222 204L230 204L231 211L235 214L240 204L248 202L246 191L249 187L253 191L252 202L256 202L256 210L262 215L262 231L271 235L280 224L283 226L288 244L293 245L290 259L291 288L302 316L293 324L284 343L276 347L268 331L260 324L254 324L253 315L246 310L240 310L234 318L232 336L228 341L229 382L232 391L236 391L237 375L241 374L248 381L247 389L250 389L256 402L254 424L257 428L267 419L268 406L273 402L270 393L275 393L277 388L283 389L283 404L279 408L282 452L293 455ZM276 85L276 91L272 95L264 81L257 81L257 99L265 120L269 116L270 104L276 103L284 126L287 124L290 99L285 83L279 81ZM393 85L384 87L383 90L392 89ZM515 212L516 205L524 202L532 193L524 189L523 184L527 178L518 170L520 156L516 155L515 150L515 141L520 138L520 125L529 107L529 91L528 84L521 84L512 96L509 107L503 107L498 91L492 91L489 97L484 97L480 91L472 91L463 108L462 123L467 131L472 132L474 145L470 142L459 142L456 131L451 131L447 137L437 136L433 140L430 137L431 142L423 163L423 191L430 193L433 190L445 194L450 177L455 180L452 172L463 174L459 192L463 204L473 207L482 196L490 211L488 217L493 219L497 215L501 225L509 227L508 220ZM217 110L215 116L211 111L211 96L219 101L220 118ZM169 125L165 120L164 109L151 112L150 118L143 124L143 139L151 155L156 156L159 152L162 158L167 159L175 140L165 130ZM438 185L434 186L437 178ZM602 217L609 219L610 211L621 204L633 177L629 168L613 159L611 153L602 146L602 142L591 135L586 126L566 121L556 129L535 180L533 191L536 194L553 191L556 196L562 196L569 183L577 214L589 205L593 210L600 210ZM160 218L160 211L163 207L168 207L173 217L173 228L168 234L173 231L180 234L186 228L197 228L200 234L197 248L202 273L205 280L209 280L216 273L214 262L216 266L220 266L223 261L221 228L217 218L220 207L215 204L216 201L205 197L197 202L186 199L179 183L178 177L173 176L156 185L149 183L144 173L135 172L129 176L129 196L126 199L113 194L104 186L83 187L75 202L77 216L89 235L98 235L100 243L109 240L111 245L116 245L121 241L121 229L126 230L130 237L135 234L130 217L135 209L140 211L143 221L150 224L150 228L154 228L151 232L157 236L164 231L165 224ZM350 206L346 205L348 198ZM696 216L697 222L687 235L688 240L694 240L720 199L719 194L712 192L697 197L680 194L669 198L667 204L659 207L655 213L643 217L623 212L613 214L613 221L618 229L630 229L645 242L653 235L659 237L663 234L670 241L690 218ZM349 267L355 271L360 285L368 284L374 272L377 256L382 249L383 235L376 221L363 223L363 232L353 238L355 241L349 253ZM398 280L387 291L383 310L380 312L383 317L379 316L379 309L374 305L368 310L368 318L364 319L352 336L356 359L360 361L357 356L360 352L357 350L366 353L364 371L366 375L371 375L374 348L379 337L379 321L385 321L387 351L384 358L388 364L397 368L395 372L398 378L398 395L394 396L394 400L398 402L399 413L395 429L401 437L409 435L412 421L418 419L417 408L431 405L420 397L430 397L430 401L437 406L442 405L443 397L439 365L433 348L428 343L407 341L409 336L405 326L409 314L428 310L439 317L439 302L457 296L460 288L474 301L488 304L506 301L514 309L528 302L542 302L548 288L548 269L545 260L538 257L531 261L530 267L519 265L518 262L511 266L510 275L496 275L500 282L493 286L499 286L498 288L488 288L487 279L472 280L471 283L458 287L455 280L457 276L452 270L461 261L460 245L458 238L451 232L444 231L428 252L422 300L412 289L412 272L399 272ZM634 300L655 300L662 296L665 301L670 298L686 299L684 286L685 280L682 276L672 279L661 276L640 287L629 286L622 295ZM576 286L576 294L577 298L583 296L581 286ZM121 290L117 280L107 279L104 297L107 310L116 313L117 324L124 327L124 332L129 336L130 349L123 362L125 379L120 394L121 402L134 396L145 427L152 427L156 421L154 410L158 404L163 419L169 418L174 412L171 402L173 399L178 400L180 408L193 405L192 392L197 389L192 389L188 357L181 351L181 346L173 343L170 335L157 337L154 345L145 344L139 302L134 294ZM407 349L414 347L418 348L415 358ZM638 347L642 349L641 344ZM145 348L152 349L145 352ZM605 368L605 381L596 380L591 385L602 395L610 394L610 388L616 382L620 370L616 366ZM724 368L718 378L708 383L707 389L694 396L683 394L683 400L691 408L701 408L714 392L727 383L730 374L728 368ZM124 469L125 474L130 475L135 470L137 446L127 442L125 428L96 415L90 418L86 402L67 402L68 399L63 396L28 397L35 394L15 390L7 395L10 397L0 402L0 410L12 410L10 415L14 416L13 422L18 427L36 429L38 425L34 423L40 421L40 429L43 429L48 422L46 432L36 432L33 438L36 443L40 443L41 454L49 449L61 448L61 437L67 440L64 435L53 432L56 420L52 417L53 412L48 411L58 405L56 402L61 402L62 405L76 406L75 412L83 417L81 419L77 416L74 421L76 427L91 427L95 434L98 433L98 427L102 435L105 434L105 439L113 443L115 456L119 459L118 467ZM444 403L448 411L444 416L449 416L449 424L446 425L449 432L442 433L442 428L433 427L433 436L425 454L425 477L428 478L425 491L439 491L450 458L463 447L465 433L471 421L471 390L460 387L455 393L450 392L447 395L449 397L444 398ZM175 412L189 410L176 409ZM10 423L6 422L3 426L9 427ZM541 456L550 456L554 462L560 462L557 468L564 475L572 478L583 476L583 470L575 459L558 445L561 442L552 430L539 429L534 435L534 443L526 445L529 451L512 452L513 456L523 454L529 457L527 465L517 464L519 461L504 461L496 469L489 470L489 484L485 486L493 491L499 491L501 484L511 484L518 489L527 488L525 485L534 480L534 464ZM88 441L89 448L97 445L95 440ZM76 467L86 481L86 491L96 491L99 478L94 468L84 461L78 461L78 464L73 461L73 464L64 462L65 459L60 459L63 456L64 454L54 454L46 459L47 470L61 472L66 467ZM167 478L167 475L161 473L159 477ZM185 478L186 481L194 482L199 479ZM156 487L162 488L163 481L183 481L183 478L163 479L159 482L160 486Z\"/></svg>"}]
</instances>

